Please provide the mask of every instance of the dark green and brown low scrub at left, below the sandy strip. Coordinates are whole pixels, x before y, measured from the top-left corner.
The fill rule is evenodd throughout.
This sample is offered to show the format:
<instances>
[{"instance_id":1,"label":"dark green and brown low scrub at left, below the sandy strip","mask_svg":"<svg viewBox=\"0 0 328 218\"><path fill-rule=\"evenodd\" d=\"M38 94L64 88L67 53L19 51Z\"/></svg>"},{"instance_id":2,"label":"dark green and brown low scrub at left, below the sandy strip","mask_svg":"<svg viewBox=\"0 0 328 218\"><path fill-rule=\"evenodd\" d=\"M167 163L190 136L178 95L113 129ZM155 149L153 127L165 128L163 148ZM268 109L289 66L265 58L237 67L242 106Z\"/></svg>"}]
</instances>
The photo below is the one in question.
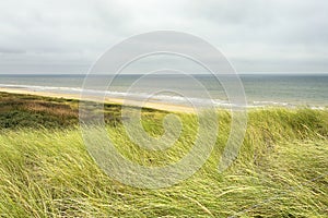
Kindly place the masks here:
<instances>
[{"instance_id":1,"label":"dark green and brown low scrub at left, below the sandy strip","mask_svg":"<svg viewBox=\"0 0 328 218\"><path fill-rule=\"evenodd\" d=\"M121 122L120 105L104 105L105 121L109 125ZM144 109L143 114L152 118L165 112ZM3 129L62 129L79 124L79 101L33 95L0 92L0 130Z\"/></svg>"}]
</instances>

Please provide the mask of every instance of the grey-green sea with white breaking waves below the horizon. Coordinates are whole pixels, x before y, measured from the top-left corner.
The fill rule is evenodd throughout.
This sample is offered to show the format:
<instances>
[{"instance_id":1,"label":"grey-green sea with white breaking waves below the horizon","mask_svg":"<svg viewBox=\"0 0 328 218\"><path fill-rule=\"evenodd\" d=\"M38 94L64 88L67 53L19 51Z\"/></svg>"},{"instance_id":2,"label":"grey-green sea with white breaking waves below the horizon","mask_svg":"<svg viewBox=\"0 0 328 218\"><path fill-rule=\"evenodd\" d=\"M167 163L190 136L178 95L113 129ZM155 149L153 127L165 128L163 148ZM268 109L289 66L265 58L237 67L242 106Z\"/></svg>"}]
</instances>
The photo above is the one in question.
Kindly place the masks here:
<instances>
[{"instance_id":1,"label":"grey-green sea with white breaking waves below the horizon","mask_svg":"<svg viewBox=\"0 0 328 218\"><path fill-rule=\"evenodd\" d=\"M249 107L328 106L328 74L239 74ZM9 75L0 74L0 87L54 93L81 93L84 75ZM208 74L198 75L94 75L86 89L108 97L149 98L153 101L184 104L192 98L200 104L213 100L229 105L222 85ZM112 81L110 84L109 81ZM227 80L229 81L229 80ZM162 89L159 87L163 87ZM162 92L159 92L161 89ZM156 93L154 93L156 92Z\"/></svg>"}]
</instances>

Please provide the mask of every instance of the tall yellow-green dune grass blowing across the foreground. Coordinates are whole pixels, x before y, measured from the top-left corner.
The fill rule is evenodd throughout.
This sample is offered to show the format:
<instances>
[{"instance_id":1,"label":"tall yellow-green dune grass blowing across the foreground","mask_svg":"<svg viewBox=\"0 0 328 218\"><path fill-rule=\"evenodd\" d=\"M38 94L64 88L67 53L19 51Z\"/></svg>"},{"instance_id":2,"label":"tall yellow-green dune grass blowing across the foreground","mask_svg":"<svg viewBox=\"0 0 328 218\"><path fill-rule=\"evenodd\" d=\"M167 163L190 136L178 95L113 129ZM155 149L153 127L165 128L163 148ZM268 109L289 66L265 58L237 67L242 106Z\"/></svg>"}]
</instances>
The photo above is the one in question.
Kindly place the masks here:
<instances>
[{"instance_id":1,"label":"tall yellow-green dune grass blowing across the foreground","mask_svg":"<svg viewBox=\"0 0 328 218\"><path fill-rule=\"evenodd\" d=\"M36 117L22 119L33 125L24 126L23 121L1 124L1 217L327 217L327 110L249 111L237 160L218 173L231 119L227 111L220 111L220 134L204 166L177 185L147 190L124 185L97 167L82 142L75 113L71 112L77 110L75 101L2 95L7 94L1 94L1 104L4 98L16 99L11 104L20 111L17 116L25 111ZM16 106L17 101L23 102ZM48 105L31 107L35 101ZM2 106L0 116L12 109L7 106L4 110ZM113 124L109 119L119 117L119 106L106 107L107 131L117 148L140 165L176 161L195 141L196 118L179 114L184 130L175 146L147 152L129 141L120 122ZM51 116L59 119L60 110L65 110L63 116L74 114L73 119L62 126L59 121L56 126L45 124L51 123ZM164 116L165 112L144 110L142 124L150 134L161 135Z\"/></svg>"}]
</instances>

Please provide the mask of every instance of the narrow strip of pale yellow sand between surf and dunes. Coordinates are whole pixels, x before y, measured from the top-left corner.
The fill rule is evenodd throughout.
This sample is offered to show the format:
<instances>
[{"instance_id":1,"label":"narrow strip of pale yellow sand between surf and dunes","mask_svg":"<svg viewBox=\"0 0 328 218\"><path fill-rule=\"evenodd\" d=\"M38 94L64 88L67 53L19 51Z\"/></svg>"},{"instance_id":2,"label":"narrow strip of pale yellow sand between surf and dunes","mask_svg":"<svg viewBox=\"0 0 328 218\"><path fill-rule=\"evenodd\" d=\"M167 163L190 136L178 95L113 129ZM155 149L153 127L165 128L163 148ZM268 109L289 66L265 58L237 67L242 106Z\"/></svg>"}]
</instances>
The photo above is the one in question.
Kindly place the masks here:
<instances>
[{"instance_id":1,"label":"narrow strip of pale yellow sand between surf and dunes","mask_svg":"<svg viewBox=\"0 0 328 218\"><path fill-rule=\"evenodd\" d=\"M38 92L38 90L28 90L25 88L0 88L0 92L3 93L12 93L12 94L25 94L25 95L36 95L44 97L55 97L55 98L65 98L65 99L78 99L80 100L81 96L79 94L63 94L63 93L51 93L51 92ZM140 107L140 101L137 100L128 100L125 102L122 98L105 98L105 102L107 104L118 104L118 105L128 105L128 106L137 106ZM145 102L143 108L151 108L157 110L165 110L172 112L184 112L184 113L195 113L194 108L187 106L179 106L174 104L166 102Z\"/></svg>"}]
</instances>

